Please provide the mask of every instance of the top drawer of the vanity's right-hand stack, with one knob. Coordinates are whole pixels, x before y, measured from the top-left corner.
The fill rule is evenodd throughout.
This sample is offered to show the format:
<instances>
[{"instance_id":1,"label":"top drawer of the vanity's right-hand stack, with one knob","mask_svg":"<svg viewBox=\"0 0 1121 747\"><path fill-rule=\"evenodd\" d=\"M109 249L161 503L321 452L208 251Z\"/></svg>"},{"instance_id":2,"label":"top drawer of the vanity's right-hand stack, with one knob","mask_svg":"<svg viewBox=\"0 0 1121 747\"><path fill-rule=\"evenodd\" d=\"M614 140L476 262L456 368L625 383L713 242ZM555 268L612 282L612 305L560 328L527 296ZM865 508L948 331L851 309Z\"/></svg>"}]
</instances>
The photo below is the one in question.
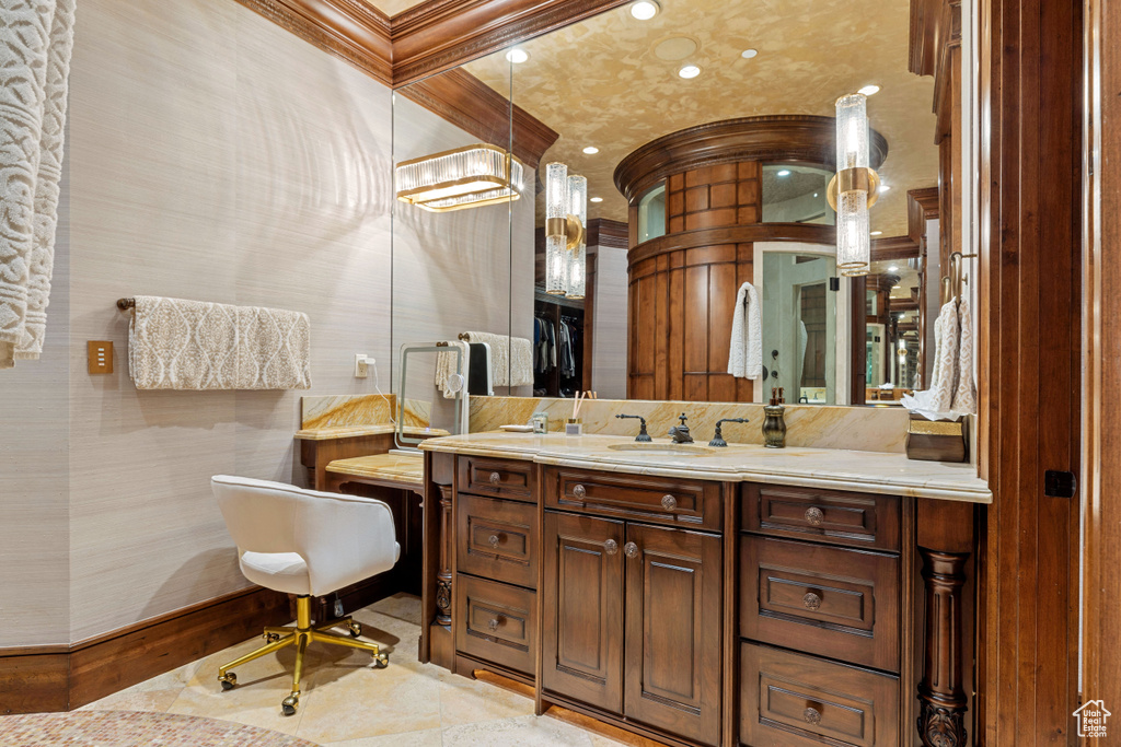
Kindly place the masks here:
<instances>
[{"instance_id":1,"label":"top drawer of the vanity's right-hand stack, with one knob","mask_svg":"<svg viewBox=\"0 0 1121 747\"><path fill-rule=\"evenodd\" d=\"M779 485L741 488L747 532L899 551L899 498Z\"/></svg>"}]
</instances>

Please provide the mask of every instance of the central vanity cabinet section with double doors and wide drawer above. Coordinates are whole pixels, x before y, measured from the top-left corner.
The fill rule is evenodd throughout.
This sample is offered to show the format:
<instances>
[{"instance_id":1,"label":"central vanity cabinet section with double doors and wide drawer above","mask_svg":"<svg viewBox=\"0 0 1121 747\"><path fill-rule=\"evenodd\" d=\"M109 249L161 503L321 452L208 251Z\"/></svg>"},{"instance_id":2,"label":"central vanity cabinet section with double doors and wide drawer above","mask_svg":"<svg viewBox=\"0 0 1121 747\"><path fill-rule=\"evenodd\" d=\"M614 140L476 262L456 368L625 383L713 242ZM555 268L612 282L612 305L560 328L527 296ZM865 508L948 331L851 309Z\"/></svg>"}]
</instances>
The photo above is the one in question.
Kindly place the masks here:
<instances>
[{"instance_id":1,"label":"central vanity cabinet section with double doors and wide drawer above","mask_svg":"<svg viewBox=\"0 0 1121 747\"><path fill-rule=\"evenodd\" d=\"M712 487L689 480L546 470L548 508L543 545L541 687L562 697L676 737L716 745L721 725L722 538L678 526L623 520L632 515L674 522L663 495L693 496L677 505L687 526ZM575 491L581 486L584 489ZM711 487L710 487L711 486ZM657 494L651 501L647 494ZM683 505L684 504L684 505ZM713 512L719 526L719 510Z\"/></svg>"}]
</instances>

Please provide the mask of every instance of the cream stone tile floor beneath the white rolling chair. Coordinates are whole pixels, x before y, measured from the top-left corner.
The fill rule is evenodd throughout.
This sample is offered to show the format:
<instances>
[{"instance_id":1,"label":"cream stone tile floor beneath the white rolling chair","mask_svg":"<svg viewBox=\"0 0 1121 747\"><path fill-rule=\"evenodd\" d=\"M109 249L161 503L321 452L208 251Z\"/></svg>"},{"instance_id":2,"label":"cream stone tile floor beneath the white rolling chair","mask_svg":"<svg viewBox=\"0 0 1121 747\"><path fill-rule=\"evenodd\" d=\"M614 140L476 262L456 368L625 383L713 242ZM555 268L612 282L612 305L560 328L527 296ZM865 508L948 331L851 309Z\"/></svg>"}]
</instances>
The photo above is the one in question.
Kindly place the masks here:
<instances>
[{"instance_id":1,"label":"cream stone tile floor beneath the white rolling chair","mask_svg":"<svg viewBox=\"0 0 1121 747\"><path fill-rule=\"evenodd\" d=\"M558 711L560 718L552 711L536 717L532 700L524 694L419 663L419 613L417 597L398 595L354 614L362 624L362 637L391 652L385 670L374 669L364 652L322 645L308 648L295 716L280 713L280 701L291 687L293 648L238 669L238 687L230 692L223 692L217 683L219 665L260 646L259 637L84 708L206 716L295 735L324 747L615 747L646 743L610 727L597 728L601 732L585 730L568 722L563 711Z\"/></svg>"}]
</instances>

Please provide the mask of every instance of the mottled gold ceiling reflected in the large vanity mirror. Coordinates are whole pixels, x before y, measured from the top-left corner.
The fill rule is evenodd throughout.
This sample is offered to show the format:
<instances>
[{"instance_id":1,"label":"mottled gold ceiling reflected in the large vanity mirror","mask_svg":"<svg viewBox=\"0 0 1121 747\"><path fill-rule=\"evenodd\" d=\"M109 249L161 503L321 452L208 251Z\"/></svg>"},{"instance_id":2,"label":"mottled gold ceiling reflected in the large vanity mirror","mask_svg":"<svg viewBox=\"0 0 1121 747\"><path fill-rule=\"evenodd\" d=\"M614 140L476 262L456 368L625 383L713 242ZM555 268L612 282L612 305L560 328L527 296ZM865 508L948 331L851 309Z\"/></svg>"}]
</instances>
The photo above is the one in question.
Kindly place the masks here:
<instances>
[{"instance_id":1,"label":"mottled gold ceiling reflected in the large vanity mirror","mask_svg":"<svg viewBox=\"0 0 1121 747\"><path fill-rule=\"evenodd\" d=\"M689 41L692 54L664 58L688 53ZM869 118L888 140L880 176L892 188L872 209L872 230L901 235L907 190L936 185L938 168L934 82L907 71L907 0L661 0L649 21L623 7L520 45L529 59L513 66L513 101L560 133L541 168L568 164L587 177L590 196L603 197L590 217L626 221L612 174L639 146L736 116L832 116L837 96L876 83ZM742 58L748 48L758 56ZM684 63L701 75L679 78ZM510 91L503 54L466 69ZM586 156L586 146L600 152Z\"/></svg>"}]
</instances>

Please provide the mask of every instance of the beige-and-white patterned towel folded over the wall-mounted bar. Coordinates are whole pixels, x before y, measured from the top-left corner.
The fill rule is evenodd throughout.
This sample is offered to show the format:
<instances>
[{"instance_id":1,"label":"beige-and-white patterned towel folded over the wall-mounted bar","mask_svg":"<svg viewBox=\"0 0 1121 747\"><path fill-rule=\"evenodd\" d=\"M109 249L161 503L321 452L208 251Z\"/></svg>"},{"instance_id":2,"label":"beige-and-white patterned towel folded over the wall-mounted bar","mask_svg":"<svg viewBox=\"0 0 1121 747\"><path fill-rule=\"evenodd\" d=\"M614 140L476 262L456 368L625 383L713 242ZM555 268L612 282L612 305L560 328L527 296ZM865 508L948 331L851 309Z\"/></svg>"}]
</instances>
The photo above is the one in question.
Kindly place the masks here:
<instances>
[{"instance_id":1,"label":"beige-and-white patterned towel folded over the wall-mounted bar","mask_svg":"<svg viewBox=\"0 0 1121 747\"><path fill-rule=\"evenodd\" d=\"M309 389L311 323L298 311L137 296L137 389Z\"/></svg>"}]
</instances>

